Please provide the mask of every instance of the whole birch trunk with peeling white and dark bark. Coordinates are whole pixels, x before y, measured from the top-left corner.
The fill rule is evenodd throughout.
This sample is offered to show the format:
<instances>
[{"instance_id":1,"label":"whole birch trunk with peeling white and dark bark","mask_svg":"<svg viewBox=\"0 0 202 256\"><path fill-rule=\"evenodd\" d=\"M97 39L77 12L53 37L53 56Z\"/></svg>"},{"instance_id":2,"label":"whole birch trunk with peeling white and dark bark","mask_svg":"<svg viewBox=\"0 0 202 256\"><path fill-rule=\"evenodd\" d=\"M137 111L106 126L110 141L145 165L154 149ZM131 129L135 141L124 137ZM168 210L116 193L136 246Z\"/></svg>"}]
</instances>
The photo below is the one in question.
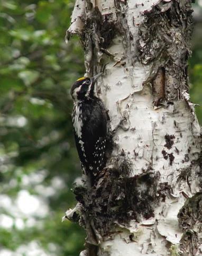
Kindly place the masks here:
<instances>
[{"instance_id":1,"label":"whole birch trunk with peeling white and dark bark","mask_svg":"<svg viewBox=\"0 0 202 256\"><path fill-rule=\"evenodd\" d=\"M191 13L191 0L75 3L67 41L80 36L87 75L103 72L97 90L112 130L120 123L98 183L75 189L87 232L80 255L202 255Z\"/></svg>"}]
</instances>

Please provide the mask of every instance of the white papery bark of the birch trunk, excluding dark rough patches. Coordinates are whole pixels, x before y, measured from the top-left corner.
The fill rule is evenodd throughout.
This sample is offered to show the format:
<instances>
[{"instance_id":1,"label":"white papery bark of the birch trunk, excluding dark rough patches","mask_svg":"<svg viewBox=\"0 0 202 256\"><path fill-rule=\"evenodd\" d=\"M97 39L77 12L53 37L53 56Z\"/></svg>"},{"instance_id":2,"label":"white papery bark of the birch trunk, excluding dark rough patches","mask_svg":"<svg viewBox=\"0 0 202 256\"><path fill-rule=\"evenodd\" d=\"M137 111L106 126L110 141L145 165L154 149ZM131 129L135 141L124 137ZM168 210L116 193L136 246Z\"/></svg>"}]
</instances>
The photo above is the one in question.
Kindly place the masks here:
<instances>
[{"instance_id":1,"label":"white papery bark of the birch trunk, excluding dark rough patches","mask_svg":"<svg viewBox=\"0 0 202 256\"><path fill-rule=\"evenodd\" d=\"M76 1L72 22L76 19L79 19L79 22L72 23L74 28L71 25L68 32L70 34L79 31L81 35L82 29L85 29L85 22L90 21L87 19L93 15L96 6L103 17L107 16L108 23L118 24L119 21L123 21L120 29L123 34L120 31L116 33L105 49L100 47L100 41L105 38L100 37L95 24L89 29L94 33L90 36L85 34L85 39L82 39L86 43L87 74L95 75L106 65L104 74L98 81L98 89L100 98L109 110L112 129L125 118L122 127L114 136L115 145L107 167L113 168L117 157L124 155L132 165L132 172L128 173L129 178L148 174L148 179L154 180L154 184L150 185L137 181L139 187L134 188L141 195L151 192L153 201L147 202L148 198L145 198L145 204L152 206L149 214L145 216L140 210L138 217L130 219L130 223L117 220L107 234L97 234L97 255L191 255L188 246L183 250L183 246L180 245L186 232L179 225L178 214L185 206L187 198L193 198L200 191L201 174L197 162L200 155L200 127L195 116L194 104L189 100L185 80L178 81L172 73L173 70L169 70L170 56L162 57L164 49L159 56L155 52L155 49L160 49L157 38L154 37L150 44L150 54L154 55L154 58L148 61L147 58L151 56L140 57L140 49L144 49L147 43L140 38L140 30L145 29L141 26L146 22L146 14L159 4L160 15L169 10L173 2L177 1ZM185 4L189 1L182 2ZM121 20L122 14L124 17ZM81 15L85 18L80 19ZM187 47L187 42L184 41L187 39L183 38L179 30L175 31L174 27L169 32L170 34L163 35L167 37L164 40L167 45L164 47L169 46L171 50L175 48L173 52L170 51L170 55L175 56L176 46L179 45L180 50ZM181 52L180 50L179 56L184 54L183 49ZM185 63L177 63L178 58L176 59L173 61L174 64L178 68L180 65L183 68ZM151 84L159 74L160 67L166 67L166 95L162 104L154 104L155 96ZM158 81L154 86L158 86L157 83ZM178 89L172 92L170 88L176 84L179 85ZM102 181L99 186L101 183ZM97 188L99 186L97 185ZM144 201L144 198L142 200ZM138 206L136 207L135 209L138 209ZM195 248L194 255L201 255L201 234L197 225L191 226L193 232L198 235L198 248Z\"/></svg>"}]
</instances>

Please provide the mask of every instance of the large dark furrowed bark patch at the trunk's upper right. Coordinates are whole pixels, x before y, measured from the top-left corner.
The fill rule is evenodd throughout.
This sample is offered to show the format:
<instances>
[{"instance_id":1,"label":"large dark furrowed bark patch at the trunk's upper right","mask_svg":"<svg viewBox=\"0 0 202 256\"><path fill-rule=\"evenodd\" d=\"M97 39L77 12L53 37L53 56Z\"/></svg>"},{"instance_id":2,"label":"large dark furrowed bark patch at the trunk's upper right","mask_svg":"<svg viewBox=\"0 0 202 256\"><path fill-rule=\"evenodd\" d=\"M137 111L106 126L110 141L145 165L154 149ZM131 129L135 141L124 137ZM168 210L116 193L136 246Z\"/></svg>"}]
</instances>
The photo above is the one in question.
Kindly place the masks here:
<instances>
[{"instance_id":1,"label":"large dark furrowed bark patch at the trunk's upper right","mask_svg":"<svg viewBox=\"0 0 202 256\"><path fill-rule=\"evenodd\" d=\"M190 0L160 1L151 11L144 12L145 20L139 26L140 60L145 65L153 62L150 80L159 67L164 67L164 92L168 101L182 99L182 91L189 89L187 59L192 34L191 13Z\"/></svg>"}]
</instances>

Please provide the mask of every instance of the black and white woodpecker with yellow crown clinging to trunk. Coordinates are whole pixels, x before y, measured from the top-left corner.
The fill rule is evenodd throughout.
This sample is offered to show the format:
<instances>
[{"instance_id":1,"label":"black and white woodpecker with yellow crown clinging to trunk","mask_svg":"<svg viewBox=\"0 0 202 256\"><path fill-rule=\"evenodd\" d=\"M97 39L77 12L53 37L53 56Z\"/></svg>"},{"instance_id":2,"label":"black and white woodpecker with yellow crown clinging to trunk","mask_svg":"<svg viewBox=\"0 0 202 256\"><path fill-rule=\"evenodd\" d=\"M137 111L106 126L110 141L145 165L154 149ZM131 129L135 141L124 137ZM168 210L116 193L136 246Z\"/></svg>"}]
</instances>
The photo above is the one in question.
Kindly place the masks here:
<instances>
[{"instance_id":1,"label":"black and white woodpecker with yellow crown clinging to trunk","mask_svg":"<svg viewBox=\"0 0 202 256\"><path fill-rule=\"evenodd\" d=\"M81 77L71 87L74 100L72 123L81 167L93 185L96 175L106 165L108 114L97 96L94 77Z\"/></svg>"}]
</instances>

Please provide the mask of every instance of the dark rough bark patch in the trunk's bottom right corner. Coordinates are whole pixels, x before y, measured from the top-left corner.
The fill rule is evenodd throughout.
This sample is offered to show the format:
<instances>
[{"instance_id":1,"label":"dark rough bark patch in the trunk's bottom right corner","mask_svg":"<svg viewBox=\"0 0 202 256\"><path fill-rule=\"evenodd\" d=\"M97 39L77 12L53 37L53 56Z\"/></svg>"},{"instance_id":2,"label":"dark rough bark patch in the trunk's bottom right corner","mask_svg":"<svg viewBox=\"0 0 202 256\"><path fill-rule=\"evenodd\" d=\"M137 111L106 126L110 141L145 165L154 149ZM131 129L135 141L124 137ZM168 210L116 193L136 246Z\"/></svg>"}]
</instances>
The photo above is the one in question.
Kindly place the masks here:
<instances>
[{"instance_id":1,"label":"dark rough bark patch in the trunk's bottom right corner","mask_svg":"<svg viewBox=\"0 0 202 256\"><path fill-rule=\"evenodd\" d=\"M178 213L178 223L183 232L180 240L181 255L196 255L202 243L202 192L187 199Z\"/></svg>"}]
</instances>

